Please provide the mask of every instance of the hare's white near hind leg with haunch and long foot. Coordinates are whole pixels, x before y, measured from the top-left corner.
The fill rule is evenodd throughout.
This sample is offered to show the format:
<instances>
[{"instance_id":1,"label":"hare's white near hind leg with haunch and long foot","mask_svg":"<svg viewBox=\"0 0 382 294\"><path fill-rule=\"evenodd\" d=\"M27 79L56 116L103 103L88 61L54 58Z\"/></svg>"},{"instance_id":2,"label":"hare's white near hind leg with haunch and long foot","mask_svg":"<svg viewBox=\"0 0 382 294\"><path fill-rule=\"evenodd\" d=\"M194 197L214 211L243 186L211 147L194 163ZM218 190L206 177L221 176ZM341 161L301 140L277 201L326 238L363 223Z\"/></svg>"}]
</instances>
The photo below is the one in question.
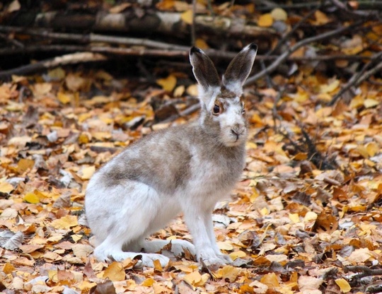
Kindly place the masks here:
<instances>
[{"instance_id":1,"label":"hare's white near hind leg with haunch and long foot","mask_svg":"<svg viewBox=\"0 0 382 294\"><path fill-rule=\"evenodd\" d=\"M94 216L98 212L99 216L107 216L97 218L91 225L96 237L103 236L103 241L94 250L95 257L100 261L122 261L141 255L137 266L154 266L156 259L162 266L166 266L168 257L139 253L137 246L134 246L144 240L146 233L150 231L152 220L158 214L158 193L146 184L133 181L125 183L123 187L119 185L103 189L102 192L103 195L98 192L99 195L92 195L92 198L99 196L97 201L103 203L103 206L98 211L88 213ZM124 252L122 247L130 250ZM137 249L136 252L134 249Z\"/></svg>"}]
</instances>

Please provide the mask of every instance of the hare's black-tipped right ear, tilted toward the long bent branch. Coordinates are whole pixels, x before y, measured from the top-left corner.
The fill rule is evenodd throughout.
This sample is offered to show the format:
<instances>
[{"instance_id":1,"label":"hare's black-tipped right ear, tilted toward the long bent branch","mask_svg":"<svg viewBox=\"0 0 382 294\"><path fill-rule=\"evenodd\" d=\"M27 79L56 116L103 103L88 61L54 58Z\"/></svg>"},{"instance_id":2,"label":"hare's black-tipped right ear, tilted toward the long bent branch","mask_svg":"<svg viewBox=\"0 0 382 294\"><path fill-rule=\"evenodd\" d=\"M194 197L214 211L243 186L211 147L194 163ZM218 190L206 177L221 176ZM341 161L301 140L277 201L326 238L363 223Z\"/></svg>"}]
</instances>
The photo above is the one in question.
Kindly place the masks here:
<instances>
[{"instance_id":1,"label":"hare's black-tipped right ear, tilted toward the long bent branch","mask_svg":"<svg viewBox=\"0 0 382 294\"><path fill-rule=\"evenodd\" d=\"M243 84L250 74L256 53L257 45L255 43L247 45L231 61L224 73L223 85L238 96L243 94Z\"/></svg>"}]
</instances>

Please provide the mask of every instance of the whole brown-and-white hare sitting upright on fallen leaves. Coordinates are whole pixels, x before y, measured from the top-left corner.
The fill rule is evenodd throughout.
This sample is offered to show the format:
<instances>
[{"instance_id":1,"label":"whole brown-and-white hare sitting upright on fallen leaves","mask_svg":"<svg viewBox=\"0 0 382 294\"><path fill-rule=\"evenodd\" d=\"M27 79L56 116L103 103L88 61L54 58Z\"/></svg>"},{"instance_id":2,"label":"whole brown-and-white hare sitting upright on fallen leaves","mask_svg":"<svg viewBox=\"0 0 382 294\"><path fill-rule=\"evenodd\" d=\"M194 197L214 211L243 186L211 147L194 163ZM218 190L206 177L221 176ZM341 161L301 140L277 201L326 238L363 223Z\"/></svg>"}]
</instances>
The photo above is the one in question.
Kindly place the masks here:
<instances>
[{"instance_id":1,"label":"whole brown-and-white hare sitting upright on fallen leaves","mask_svg":"<svg viewBox=\"0 0 382 294\"><path fill-rule=\"evenodd\" d=\"M222 81L211 59L192 47L190 62L201 105L195 122L156 131L128 146L91 178L86 216L95 235L100 261L138 257L137 266L162 266L168 245L174 254L187 248L204 264L229 264L216 245L212 211L226 199L245 164L247 122L243 83L257 52L250 44L231 61ZM193 243L146 241L183 212ZM142 252L142 253L141 253Z\"/></svg>"}]
</instances>

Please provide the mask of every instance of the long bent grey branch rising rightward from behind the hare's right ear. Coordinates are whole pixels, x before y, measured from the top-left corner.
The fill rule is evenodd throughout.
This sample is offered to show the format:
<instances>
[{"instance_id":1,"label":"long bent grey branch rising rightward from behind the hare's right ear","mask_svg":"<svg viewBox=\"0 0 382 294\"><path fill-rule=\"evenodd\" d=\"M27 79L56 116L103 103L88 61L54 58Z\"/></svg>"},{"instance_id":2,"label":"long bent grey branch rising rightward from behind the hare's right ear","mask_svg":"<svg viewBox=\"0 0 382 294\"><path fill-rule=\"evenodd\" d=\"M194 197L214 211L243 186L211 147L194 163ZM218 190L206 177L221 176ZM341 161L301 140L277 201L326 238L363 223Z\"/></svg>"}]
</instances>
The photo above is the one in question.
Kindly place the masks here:
<instances>
[{"instance_id":1,"label":"long bent grey branch rising rightward from behind the hare's right ear","mask_svg":"<svg viewBox=\"0 0 382 294\"><path fill-rule=\"evenodd\" d=\"M350 30L351 28L354 28L359 24L361 24L361 21L358 21L354 25L349 25L347 27L337 28L337 30L331 30L330 32L326 32L326 33L317 35L315 37L308 37L304 40L301 40L300 42L297 42L294 46L289 48L286 52L281 54L275 61L273 61L273 63L270 66L268 66L267 69L264 69L264 70L260 71L260 73L255 74L255 76L251 76L250 78L248 78L248 80L245 82L245 86L253 85L255 83L255 81L257 81L259 78L262 78L266 74L272 73L275 69L277 69L277 66L282 64L282 62L285 61L285 59L287 59L287 57L289 57L290 54L295 52L300 47L308 45L311 42L317 42L319 40L324 40L328 37L333 37L335 35L339 35L340 33L344 33L345 31Z\"/></svg>"}]
</instances>

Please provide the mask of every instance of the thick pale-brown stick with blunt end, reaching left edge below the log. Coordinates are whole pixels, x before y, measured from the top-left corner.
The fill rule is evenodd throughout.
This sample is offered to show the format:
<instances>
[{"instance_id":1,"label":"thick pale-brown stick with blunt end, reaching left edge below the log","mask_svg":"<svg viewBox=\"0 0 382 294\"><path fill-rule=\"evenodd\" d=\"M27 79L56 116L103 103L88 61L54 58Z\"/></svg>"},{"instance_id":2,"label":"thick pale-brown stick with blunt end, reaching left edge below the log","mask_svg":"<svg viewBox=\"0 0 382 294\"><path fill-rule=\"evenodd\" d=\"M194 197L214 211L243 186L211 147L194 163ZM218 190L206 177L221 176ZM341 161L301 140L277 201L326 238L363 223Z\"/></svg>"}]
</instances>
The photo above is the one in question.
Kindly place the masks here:
<instances>
[{"instance_id":1,"label":"thick pale-brown stick with blunt end, reaching left edge below the log","mask_svg":"<svg viewBox=\"0 0 382 294\"><path fill-rule=\"evenodd\" d=\"M66 54L61 57L54 57L53 59L47 59L44 61L37 62L35 64L20 66L16 69L10 69L8 71L0 71L0 78L5 78L13 74L23 75L23 74L32 73L35 71L41 71L43 69L51 69L53 67L62 66L65 64L78 64L81 62L103 61L106 59L107 57L105 57L102 54L91 53L91 52L78 52L74 54Z\"/></svg>"}]
</instances>

